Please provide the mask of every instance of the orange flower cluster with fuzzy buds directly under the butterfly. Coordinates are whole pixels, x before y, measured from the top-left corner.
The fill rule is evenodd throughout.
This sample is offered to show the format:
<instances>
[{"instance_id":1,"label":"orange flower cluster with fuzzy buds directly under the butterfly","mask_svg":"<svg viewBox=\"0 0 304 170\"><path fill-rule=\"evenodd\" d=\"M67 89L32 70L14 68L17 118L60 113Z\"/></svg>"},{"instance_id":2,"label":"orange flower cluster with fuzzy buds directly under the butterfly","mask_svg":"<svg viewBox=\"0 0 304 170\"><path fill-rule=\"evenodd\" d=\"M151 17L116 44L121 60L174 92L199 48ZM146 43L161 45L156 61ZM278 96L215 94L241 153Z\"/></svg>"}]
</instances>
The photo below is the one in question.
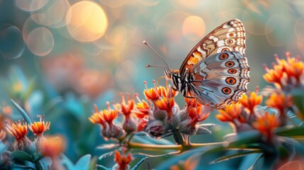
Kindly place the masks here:
<instances>
[{"instance_id":1,"label":"orange flower cluster with fuzzy buds directly under the butterfly","mask_svg":"<svg viewBox=\"0 0 304 170\"><path fill-rule=\"evenodd\" d=\"M101 135L105 138L124 139L132 132L145 131L150 136L161 138L169 135L200 135L211 133L207 128L213 124L199 124L206 120L210 109L197 103L195 98L185 98L186 105L180 109L174 100L178 94L171 86L156 86L148 89L144 82L145 100L140 100L138 94L133 98L122 95L120 103L113 104L113 109L107 103L107 110L95 111L89 118L91 123L101 125ZM137 103L135 99L137 98ZM123 123L114 123L119 115L123 115ZM175 138L176 140L178 138ZM177 143L184 143L183 137Z\"/></svg>"}]
</instances>

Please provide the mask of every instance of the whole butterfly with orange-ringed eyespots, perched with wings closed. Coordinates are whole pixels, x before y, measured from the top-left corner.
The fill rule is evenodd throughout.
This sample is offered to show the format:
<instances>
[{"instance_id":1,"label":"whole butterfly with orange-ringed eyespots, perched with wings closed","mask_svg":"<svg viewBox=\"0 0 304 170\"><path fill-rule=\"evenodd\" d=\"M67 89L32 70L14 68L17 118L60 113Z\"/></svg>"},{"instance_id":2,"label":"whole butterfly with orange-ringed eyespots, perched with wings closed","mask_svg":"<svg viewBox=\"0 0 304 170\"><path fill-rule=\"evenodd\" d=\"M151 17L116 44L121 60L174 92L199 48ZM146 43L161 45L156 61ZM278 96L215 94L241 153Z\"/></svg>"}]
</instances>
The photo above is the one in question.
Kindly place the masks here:
<instances>
[{"instance_id":1,"label":"whole butterfly with orange-ringed eyespots, perched with wings closed","mask_svg":"<svg viewBox=\"0 0 304 170\"><path fill-rule=\"evenodd\" d=\"M211 108L235 103L249 83L245 40L242 22L227 21L193 47L179 70L168 67L165 77L175 91Z\"/></svg>"}]
</instances>

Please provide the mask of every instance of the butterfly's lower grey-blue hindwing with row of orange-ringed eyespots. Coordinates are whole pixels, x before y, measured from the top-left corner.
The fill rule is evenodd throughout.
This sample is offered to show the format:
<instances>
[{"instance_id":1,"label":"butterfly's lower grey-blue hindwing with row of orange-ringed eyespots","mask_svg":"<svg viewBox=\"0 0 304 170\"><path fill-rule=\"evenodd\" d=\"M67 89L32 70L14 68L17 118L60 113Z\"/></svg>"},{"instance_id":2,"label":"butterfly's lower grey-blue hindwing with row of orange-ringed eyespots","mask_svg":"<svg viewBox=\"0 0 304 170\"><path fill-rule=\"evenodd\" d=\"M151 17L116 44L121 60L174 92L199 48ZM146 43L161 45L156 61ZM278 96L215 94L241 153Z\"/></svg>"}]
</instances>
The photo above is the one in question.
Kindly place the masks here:
<instances>
[{"instance_id":1,"label":"butterfly's lower grey-blue hindwing with row of orange-ringed eyespots","mask_svg":"<svg viewBox=\"0 0 304 170\"><path fill-rule=\"evenodd\" d=\"M220 52L188 69L191 96L213 108L223 108L247 91L249 65L240 52Z\"/></svg>"}]
</instances>

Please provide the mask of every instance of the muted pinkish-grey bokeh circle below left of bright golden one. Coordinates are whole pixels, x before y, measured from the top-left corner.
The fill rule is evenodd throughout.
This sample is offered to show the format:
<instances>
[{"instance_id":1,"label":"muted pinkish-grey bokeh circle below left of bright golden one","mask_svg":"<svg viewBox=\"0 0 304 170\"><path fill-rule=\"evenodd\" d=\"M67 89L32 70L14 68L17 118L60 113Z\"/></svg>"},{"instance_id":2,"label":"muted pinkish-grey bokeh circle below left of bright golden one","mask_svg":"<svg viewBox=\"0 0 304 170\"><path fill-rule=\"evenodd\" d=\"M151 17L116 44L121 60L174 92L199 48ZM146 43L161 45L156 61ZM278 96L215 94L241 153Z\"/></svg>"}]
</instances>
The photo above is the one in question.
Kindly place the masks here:
<instances>
[{"instance_id":1,"label":"muted pinkish-grey bokeh circle below left of bright golden one","mask_svg":"<svg viewBox=\"0 0 304 170\"><path fill-rule=\"evenodd\" d=\"M28 45L30 52L43 57L52 51L54 47L54 37L47 28L38 27L28 34L26 45Z\"/></svg>"}]
</instances>

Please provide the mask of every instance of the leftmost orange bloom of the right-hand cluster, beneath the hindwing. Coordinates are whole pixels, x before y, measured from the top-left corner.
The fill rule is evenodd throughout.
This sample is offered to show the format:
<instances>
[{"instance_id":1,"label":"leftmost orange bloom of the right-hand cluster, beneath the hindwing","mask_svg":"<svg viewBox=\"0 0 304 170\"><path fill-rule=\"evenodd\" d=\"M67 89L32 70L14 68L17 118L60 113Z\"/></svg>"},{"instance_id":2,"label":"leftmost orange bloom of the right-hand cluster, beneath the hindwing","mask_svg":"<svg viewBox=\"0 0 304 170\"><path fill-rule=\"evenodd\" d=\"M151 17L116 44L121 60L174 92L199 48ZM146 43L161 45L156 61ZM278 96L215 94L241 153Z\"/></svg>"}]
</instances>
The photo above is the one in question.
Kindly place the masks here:
<instances>
[{"instance_id":1,"label":"leftmost orange bloom of the right-hand cluster, beneath the hindwing","mask_svg":"<svg viewBox=\"0 0 304 170\"><path fill-rule=\"evenodd\" d=\"M219 110L220 115L215 115L216 118L222 122L231 122L234 123L235 120L238 120L240 123L246 123L246 118L241 114L242 105L241 103L230 104L225 107L225 110Z\"/></svg>"}]
</instances>

